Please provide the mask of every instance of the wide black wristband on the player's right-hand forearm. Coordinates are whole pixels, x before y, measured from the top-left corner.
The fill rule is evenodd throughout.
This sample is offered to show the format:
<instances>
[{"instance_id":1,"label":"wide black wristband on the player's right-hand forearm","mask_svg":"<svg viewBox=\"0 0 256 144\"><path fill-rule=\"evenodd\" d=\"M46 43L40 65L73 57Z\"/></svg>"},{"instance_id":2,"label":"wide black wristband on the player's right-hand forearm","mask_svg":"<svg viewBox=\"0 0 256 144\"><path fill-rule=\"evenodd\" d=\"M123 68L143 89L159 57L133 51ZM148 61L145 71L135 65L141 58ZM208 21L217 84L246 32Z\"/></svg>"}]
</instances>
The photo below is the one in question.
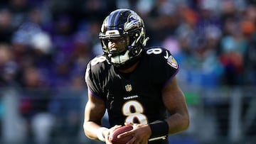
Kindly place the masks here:
<instances>
[{"instance_id":1,"label":"wide black wristband on the player's right-hand forearm","mask_svg":"<svg viewBox=\"0 0 256 144\"><path fill-rule=\"evenodd\" d=\"M149 123L149 127L151 129L150 138L161 137L169 133L169 125L166 121L154 121Z\"/></svg>"}]
</instances>

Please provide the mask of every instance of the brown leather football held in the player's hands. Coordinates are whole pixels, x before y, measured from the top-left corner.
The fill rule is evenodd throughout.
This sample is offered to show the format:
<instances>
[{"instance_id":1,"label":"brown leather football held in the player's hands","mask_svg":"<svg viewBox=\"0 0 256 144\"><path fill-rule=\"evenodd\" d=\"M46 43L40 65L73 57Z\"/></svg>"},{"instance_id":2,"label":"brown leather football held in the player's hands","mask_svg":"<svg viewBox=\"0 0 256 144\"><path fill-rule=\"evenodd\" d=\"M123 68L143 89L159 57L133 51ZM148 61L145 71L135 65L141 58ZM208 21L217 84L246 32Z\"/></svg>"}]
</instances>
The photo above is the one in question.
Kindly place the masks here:
<instances>
[{"instance_id":1,"label":"brown leather football held in the player's hands","mask_svg":"<svg viewBox=\"0 0 256 144\"><path fill-rule=\"evenodd\" d=\"M127 132L127 131L131 131L131 130L132 130L132 126L122 126L122 127L115 129L114 131L112 131L112 133L110 133L110 137L109 137L110 142L113 144L127 143L129 140L132 139L132 136L126 136L124 138L117 138L117 135Z\"/></svg>"}]
</instances>

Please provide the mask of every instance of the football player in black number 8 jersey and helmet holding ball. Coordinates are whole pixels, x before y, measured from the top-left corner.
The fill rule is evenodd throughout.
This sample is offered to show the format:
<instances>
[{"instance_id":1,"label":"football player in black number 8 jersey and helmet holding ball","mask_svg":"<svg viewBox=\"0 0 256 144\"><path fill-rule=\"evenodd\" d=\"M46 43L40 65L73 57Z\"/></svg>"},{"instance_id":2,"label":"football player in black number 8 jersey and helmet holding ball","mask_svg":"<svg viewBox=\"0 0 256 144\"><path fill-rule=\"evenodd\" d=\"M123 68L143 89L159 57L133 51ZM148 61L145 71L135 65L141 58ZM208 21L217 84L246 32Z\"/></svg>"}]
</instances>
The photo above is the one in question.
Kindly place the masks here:
<instances>
[{"instance_id":1,"label":"football player in black number 8 jersey and helmet holding ball","mask_svg":"<svg viewBox=\"0 0 256 144\"><path fill-rule=\"evenodd\" d=\"M104 54L85 74L85 135L110 143L110 131L125 124L134 129L119 138L132 135L129 143L167 144L168 135L185 131L189 116L175 77L178 64L169 50L146 48L142 18L130 9L112 11L99 38ZM102 127L106 110L110 128Z\"/></svg>"}]
</instances>

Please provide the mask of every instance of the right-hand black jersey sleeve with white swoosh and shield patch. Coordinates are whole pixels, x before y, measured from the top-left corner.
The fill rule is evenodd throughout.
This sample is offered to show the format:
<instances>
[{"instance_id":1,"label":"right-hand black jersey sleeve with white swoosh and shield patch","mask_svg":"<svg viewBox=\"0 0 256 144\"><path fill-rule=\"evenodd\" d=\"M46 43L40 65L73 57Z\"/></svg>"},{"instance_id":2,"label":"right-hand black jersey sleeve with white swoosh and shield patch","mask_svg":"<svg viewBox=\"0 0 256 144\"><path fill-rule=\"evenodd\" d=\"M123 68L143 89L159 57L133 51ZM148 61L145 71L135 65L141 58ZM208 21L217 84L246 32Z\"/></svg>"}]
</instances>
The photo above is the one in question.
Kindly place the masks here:
<instances>
[{"instance_id":1,"label":"right-hand black jersey sleeve with white swoosh and shield patch","mask_svg":"<svg viewBox=\"0 0 256 144\"><path fill-rule=\"evenodd\" d=\"M169 50L165 48L153 48L147 50L147 55L151 55L151 70L154 83L159 87L165 87L178 73L178 63Z\"/></svg>"}]
</instances>

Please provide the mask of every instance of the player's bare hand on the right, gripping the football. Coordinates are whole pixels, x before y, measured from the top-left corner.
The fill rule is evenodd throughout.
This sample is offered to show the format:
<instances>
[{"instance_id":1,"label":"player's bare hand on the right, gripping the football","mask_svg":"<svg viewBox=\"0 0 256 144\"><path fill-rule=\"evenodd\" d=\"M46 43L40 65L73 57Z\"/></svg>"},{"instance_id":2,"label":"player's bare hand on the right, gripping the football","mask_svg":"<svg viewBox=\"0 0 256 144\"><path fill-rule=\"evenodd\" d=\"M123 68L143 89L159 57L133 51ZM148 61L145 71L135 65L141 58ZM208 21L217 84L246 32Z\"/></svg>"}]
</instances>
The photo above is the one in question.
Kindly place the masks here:
<instances>
[{"instance_id":1,"label":"player's bare hand on the right, gripping the football","mask_svg":"<svg viewBox=\"0 0 256 144\"><path fill-rule=\"evenodd\" d=\"M151 135L151 129L148 125L142 125L138 123L124 123L125 125L131 125L132 131L128 131L118 135L117 138L122 138L127 135L132 135L133 138L129 140L127 144L147 144Z\"/></svg>"}]
</instances>

